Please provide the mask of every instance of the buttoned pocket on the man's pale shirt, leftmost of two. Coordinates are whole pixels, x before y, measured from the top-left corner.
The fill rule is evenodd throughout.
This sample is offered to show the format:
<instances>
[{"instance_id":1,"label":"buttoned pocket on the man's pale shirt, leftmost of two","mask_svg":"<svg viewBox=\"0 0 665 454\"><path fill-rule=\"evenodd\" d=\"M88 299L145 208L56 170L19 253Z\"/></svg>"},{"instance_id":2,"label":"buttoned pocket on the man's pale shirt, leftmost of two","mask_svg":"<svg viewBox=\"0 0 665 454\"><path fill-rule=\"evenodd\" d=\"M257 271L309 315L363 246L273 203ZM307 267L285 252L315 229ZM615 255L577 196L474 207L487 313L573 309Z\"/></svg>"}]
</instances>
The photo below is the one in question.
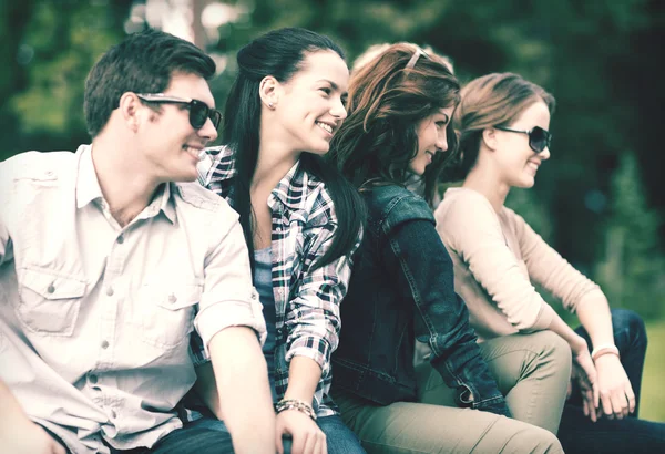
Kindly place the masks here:
<instances>
[{"instance_id":1,"label":"buttoned pocket on the man's pale shirt, leftmost of two","mask_svg":"<svg viewBox=\"0 0 665 454\"><path fill-rule=\"evenodd\" d=\"M43 268L22 268L17 316L32 332L72 336L85 288L86 282L75 277Z\"/></svg>"}]
</instances>

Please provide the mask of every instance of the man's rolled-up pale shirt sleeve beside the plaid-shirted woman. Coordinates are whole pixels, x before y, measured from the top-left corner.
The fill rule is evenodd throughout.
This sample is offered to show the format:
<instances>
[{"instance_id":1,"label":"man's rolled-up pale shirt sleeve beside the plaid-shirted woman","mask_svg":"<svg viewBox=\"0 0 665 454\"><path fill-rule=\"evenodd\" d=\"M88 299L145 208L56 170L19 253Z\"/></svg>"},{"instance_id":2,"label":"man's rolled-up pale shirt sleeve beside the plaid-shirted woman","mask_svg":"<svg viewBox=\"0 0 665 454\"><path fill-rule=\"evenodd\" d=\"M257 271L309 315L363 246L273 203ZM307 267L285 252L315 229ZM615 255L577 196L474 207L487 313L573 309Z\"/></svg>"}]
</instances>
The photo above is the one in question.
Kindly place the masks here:
<instances>
[{"instance_id":1,"label":"man's rolled-up pale shirt sleeve beside the plaid-shirted woman","mask_svg":"<svg viewBox=\"0 0 665 454\"><path fill-rule=\"evenodd\" d=\"M229 208L231 210L231 208ZM265 342L266 323L263 307L252 287L252 271L245 237L237 216L226 225L212 228L213 246L206 257L204 289L194 324L203 341L203 352L209 358L211 339L228 327L248 327ZM201 362L201 361L197 361Z\"/></svg>"}]
</instances>

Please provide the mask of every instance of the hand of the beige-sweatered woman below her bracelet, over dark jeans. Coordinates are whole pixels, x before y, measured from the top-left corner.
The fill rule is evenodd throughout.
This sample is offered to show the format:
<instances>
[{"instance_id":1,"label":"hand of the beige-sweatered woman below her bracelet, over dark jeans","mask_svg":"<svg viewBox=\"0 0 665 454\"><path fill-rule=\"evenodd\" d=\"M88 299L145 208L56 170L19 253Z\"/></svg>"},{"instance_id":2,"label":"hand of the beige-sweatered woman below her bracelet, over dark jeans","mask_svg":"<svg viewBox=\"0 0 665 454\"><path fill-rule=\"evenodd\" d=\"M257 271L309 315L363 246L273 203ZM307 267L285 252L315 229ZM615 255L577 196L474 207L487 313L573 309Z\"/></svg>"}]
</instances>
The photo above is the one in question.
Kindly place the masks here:
<instances>
[{"instance_id":1,"label":"hand of the beige-sweatered woman below her bracelet, over dark jeans","mask_svg":"<svg viewBox=\"0 0 665 454\"><path fill-rule=\"evenodd\" d=\"M635 411L635 393L618 357L603 354L596 362L603 413L610 420L623 420Z\"/></svg>"}]
</instances>

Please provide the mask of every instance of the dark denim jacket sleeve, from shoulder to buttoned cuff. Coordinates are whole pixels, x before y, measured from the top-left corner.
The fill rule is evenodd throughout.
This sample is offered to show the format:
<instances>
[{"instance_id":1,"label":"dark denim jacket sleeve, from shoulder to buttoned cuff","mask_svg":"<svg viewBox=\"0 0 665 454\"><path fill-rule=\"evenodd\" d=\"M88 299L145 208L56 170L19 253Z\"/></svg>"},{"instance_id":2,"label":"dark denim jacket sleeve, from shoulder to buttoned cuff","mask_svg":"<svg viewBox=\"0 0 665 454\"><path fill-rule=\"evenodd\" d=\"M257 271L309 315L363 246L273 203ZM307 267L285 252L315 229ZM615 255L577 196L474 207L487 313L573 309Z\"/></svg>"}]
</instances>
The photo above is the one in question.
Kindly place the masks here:
<instances>
[{"instance_id":1,"label":"dark denim jacket sleeve, from shoulder to buttoned cuff","mask_svg":"<svg viewBox=\"0 0 665 454\"><path fill-rule=\"evenodd\" d=\"M480 354L467 306L454 292L452 260L429 206L418 196L403 197L390 207L381 227L383 264L403 300L415 303L416 338L430 345L432 367L459 391L458 404L510 416Z\"/></svg>"}]
</instances>

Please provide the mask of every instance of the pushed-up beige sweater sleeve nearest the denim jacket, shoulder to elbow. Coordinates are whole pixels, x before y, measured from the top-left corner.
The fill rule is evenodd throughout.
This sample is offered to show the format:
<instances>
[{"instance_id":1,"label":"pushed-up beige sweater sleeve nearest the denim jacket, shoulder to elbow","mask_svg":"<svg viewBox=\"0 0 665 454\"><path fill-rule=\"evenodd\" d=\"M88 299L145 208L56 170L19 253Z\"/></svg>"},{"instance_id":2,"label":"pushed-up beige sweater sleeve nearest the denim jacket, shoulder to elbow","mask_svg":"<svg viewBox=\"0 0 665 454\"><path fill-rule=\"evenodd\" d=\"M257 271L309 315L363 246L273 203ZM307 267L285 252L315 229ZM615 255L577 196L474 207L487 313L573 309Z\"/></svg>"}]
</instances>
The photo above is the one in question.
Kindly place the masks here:
<instances>
[{"instance_id":1,"label":"pushed-up beige sweater sleeve nearest the denim jacket, shoulder to elbow","mask_svg":"<svg viewBox=\"0 0 665 454\"><path fill-rule=\"evenodd\" d=\"M470 190L459 194L436 216L443 243L469 267L516 330L538 331L550 326L554 310L520 269L495 211L482 195Z\"/></svg>"}]
</instances>

